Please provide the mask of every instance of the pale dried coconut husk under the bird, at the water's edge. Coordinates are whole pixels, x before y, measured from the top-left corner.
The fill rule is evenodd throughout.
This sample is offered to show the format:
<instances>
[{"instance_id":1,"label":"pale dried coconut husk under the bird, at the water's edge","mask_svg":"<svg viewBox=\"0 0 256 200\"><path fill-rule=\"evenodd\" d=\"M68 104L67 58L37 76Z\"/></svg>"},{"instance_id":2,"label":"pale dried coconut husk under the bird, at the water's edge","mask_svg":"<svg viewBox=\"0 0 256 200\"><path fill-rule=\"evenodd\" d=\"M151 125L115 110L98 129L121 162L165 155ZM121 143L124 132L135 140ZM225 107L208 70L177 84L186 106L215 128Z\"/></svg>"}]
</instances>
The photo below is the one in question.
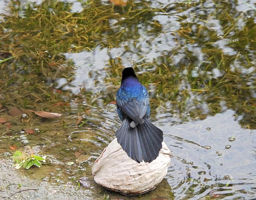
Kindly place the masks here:
<instances>
[{"instance_id":1,"label":"pale dried coconut husk under the bird, at the water's edge","mask_svg":"<svg viewBox=\"0 0 256 200\"><path fill-rule=\"evenodd\" d=\"M171 151L164 142L162 146L155 160L139 164L127 156L117 139L114 139L93 164L95 182L125 195L141 194L154 189L164 179L171 164Z\"/></svg>"}]
</instances>

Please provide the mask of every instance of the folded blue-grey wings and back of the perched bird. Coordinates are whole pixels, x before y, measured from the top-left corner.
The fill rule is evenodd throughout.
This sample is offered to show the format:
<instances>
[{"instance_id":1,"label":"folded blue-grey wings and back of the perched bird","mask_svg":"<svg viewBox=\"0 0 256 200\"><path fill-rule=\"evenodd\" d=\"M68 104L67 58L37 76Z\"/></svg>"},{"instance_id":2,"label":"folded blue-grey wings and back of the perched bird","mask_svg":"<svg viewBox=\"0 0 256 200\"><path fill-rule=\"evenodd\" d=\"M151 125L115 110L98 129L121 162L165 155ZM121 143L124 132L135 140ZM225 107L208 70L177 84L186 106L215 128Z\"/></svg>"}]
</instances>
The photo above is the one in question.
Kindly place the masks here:
<instances>
[{"instance_id":1,"label":"folded blue-grey wings and back of the perched bird","mask_svg":"<svg viewBox=\"0 0 256 200\"><path fill-rule=\"evenodd\" d=\"M122 91L117 92L116 104L127 117L137 121L136 118L142 119L148 111L148 93L134 96L124 94Z\"/></svg>"}]
</instances>

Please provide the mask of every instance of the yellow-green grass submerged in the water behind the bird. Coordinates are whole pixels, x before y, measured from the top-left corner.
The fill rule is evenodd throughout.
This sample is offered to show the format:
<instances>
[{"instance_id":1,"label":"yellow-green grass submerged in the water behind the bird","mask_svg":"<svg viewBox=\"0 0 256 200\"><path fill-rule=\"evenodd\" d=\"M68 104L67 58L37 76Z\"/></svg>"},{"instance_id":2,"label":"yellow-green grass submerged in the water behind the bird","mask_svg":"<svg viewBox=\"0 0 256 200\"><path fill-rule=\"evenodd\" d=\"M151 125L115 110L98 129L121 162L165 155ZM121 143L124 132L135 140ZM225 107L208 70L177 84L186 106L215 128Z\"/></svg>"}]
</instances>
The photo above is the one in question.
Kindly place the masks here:
<instances>
[{"instance_id":1,"label":"yellow-green grass submerged in the water behind the bird","mask_svg":"<svg viewBox=\"0 0 256 200\"><path fill-rule=\"evenodd\" d=\"M155 13L170 12L168 6L152 8L144 1L136 4L132 2L125 8L101 1L80 3L83 12L71 12L72 4L68 2L43 1L36 5L11 1L10 14L0 23L4 30L0 36L3 52L1 55L10 54L8 58L0 61L4 105L12 103L24 108L35 108L40 102L48 101L51 104L60 101L60 95L49 91L49 86L56 85L56 77L66 78L69 83L74 79L73 62L67 61L63 53L93 52L97 46L108 49L124 46L127 51L131 51L131 45L138 52L142 52L143 46L139 44L141 33L144 32L148 42L154 45L155 37L163 32L161 23L155 20ZM193 112L189 108L191 106L188 106L191 103L199 104L200 107L215 98L219 100L214 109L208 107L209 114L220 112L221 109L215 108L220 108L219 102L225 100L228 108L236 110L238 106L243 109L242 113L247 113L245 118L254 119L255 98L252 97L252 92L255 86L248 85L255 84L255 68L250 69L255 66L254 21L244 19L243 13L233 10L232 4L226 1L218 2L218 7L207 18L199 15L194 21L187 20L193 13L181 14L186 10L185 4L172 5L176 10L180 9L177 17L181 27L165 34L174 37L179 42L178 46L171 47L171 51L154 58L153 62L148 62L143 59L143 54L138 53L141 61L134 63L139 70L149 70L143 70L145 73L141 74L140 79L152 91L151 96L156 98L152 100L153 103L156 102L154 106L164 106L171 101L175 109ZM186 6L192 8L196 4ZM212 22L213 19L220 23L223 39L210 28L209 24L215 23ZM115 21L114 25L110 25L111 21ZM241 21L244 21L243 27L239 26ZM220 46L220 40L225 41L225 48L231 48L237 54L223 52L225 48ZM127 45L129 41L132 42L130 46ZM198 55L190 47L199 47L203 59L198 60ZM177 63L174 59L179 54L181 60ZM109 59L108 66L111 67L104 69L108 76L105 81L109 84L120 84L123 59ZM200 71L195 71L194 68L198 66ZM253 73L247 73L247 70ZM219 75L215 76L216 73ZM22 92L11 97L9 92L17 86ZM71 95L70 92L66 94ZM91 93L88 92L88 95ZM28 98L22 100L22 96ZM111 96L114 98L114 95ZM86 98L90 99L90 96ZM105 98L109 99L107 95Z\"/></svg>"}]
</instances>

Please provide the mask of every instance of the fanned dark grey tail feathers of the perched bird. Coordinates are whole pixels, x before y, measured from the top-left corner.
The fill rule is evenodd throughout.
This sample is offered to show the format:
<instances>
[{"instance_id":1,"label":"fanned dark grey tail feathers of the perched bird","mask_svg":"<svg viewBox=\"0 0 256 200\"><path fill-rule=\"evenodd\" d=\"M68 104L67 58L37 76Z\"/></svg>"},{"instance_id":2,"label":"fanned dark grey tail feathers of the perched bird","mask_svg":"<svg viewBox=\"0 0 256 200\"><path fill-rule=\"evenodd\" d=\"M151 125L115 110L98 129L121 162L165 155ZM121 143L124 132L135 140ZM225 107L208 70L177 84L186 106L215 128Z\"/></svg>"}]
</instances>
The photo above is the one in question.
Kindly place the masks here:
<instances>
[{"instance_id":1,"label":"fanned dark grey tail feathers of the perched bird","mask_svg":"<svg viewBox=\"0 0 256 200\"><path fill-rule=\"evenodd\" d=\"M150 163L159 155L162 148L163 132L154 124L144 118L143 124L134 128L132 120L125 118L121 126L116 130L117 142L122 146L127 155L137 163Z\"/></svg>"}]
</instances>

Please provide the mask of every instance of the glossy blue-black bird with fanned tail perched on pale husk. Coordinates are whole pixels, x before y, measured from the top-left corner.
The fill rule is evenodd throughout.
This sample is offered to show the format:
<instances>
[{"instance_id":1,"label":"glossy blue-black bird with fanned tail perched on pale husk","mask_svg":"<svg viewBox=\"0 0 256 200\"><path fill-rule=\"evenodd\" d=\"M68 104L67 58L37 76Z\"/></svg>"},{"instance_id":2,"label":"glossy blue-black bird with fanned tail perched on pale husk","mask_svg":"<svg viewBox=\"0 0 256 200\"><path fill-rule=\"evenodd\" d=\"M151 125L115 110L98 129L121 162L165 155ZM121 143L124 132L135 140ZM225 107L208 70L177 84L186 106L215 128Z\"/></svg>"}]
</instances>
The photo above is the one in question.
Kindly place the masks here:
<instances>
[{"instance_id":1,"label":"glossy blue-black bird with fanned tail perched on pale husk","mask_svg":"<svg viewBox=\"0 0 256 200\"><path fill-rule=\"evenodd\" d=\"M116 93L117 113L122 121L116 130L117 142L137 163L151 163L162 148L163 131L152 124L147 89L140 84L132 67L124 68Z\"/></svg>"}]
</instances>

